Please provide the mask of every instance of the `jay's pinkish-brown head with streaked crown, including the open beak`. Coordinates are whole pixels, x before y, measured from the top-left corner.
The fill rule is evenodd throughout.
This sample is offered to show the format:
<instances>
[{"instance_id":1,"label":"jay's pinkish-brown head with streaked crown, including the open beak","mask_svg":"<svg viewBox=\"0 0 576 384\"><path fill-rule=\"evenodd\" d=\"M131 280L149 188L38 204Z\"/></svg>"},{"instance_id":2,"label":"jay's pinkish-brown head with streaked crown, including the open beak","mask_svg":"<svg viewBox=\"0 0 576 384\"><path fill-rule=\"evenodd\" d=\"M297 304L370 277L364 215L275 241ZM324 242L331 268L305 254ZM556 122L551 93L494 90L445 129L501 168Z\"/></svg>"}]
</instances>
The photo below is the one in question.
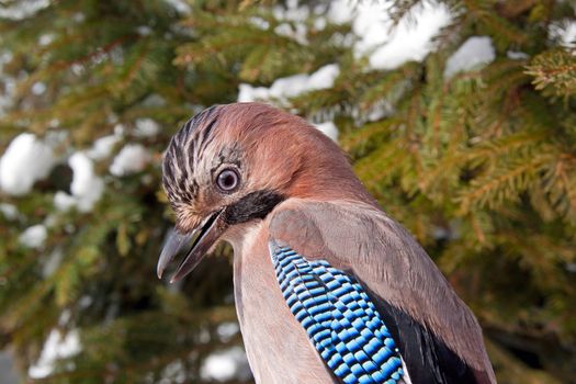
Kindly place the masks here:
<instances>
[{"instance_id":1,"label":"jay's pinkish-brown head with streaked crown, including the open beak","mask_svg":"<svg viewBox=\"0 0 576 384\"><path fill-rule=\"evenodd\" d=\"M189 249L171 281L285 199L372 202L331 139L305 120L260 103L216 105L192 117L170 140L162 184L177 225L158 276Z\"/></svg>"}]
</instances>

